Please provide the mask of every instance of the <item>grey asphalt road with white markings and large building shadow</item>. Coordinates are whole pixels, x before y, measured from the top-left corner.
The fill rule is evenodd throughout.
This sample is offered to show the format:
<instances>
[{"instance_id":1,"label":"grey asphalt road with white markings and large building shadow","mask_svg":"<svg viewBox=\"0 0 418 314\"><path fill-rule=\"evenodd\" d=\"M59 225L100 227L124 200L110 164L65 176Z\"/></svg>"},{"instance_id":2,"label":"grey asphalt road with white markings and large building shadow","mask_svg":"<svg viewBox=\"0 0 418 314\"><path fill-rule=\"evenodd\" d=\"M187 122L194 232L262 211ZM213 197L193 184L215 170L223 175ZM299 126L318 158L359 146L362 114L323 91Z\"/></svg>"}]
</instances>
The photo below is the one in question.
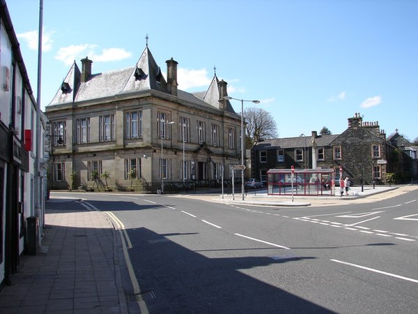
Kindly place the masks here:
<instances>
[{"instance_id":1,"label":"grey asphalt road with white markings and large building shadow","mask_svg":"<svg viewBox=\"0 0 418 314\"><path fill-rule=\"evenodd\" d=\"M82 196L123 224L150 313L417 311L417 191L293 208Z\"/></svg>"}]
</instances>

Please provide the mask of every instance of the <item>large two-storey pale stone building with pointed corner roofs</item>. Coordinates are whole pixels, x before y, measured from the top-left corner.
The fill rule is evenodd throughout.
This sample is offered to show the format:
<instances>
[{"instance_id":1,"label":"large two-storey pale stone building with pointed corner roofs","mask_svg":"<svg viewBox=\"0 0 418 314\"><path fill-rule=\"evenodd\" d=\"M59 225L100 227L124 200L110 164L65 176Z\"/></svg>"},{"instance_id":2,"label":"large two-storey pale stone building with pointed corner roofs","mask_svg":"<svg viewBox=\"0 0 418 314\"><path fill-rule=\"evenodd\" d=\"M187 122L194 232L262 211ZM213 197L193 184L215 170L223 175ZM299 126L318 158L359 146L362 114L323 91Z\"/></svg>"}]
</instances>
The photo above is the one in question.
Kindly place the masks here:
<instances>
[{"instance_id":1,"label":"large two-storey pale stone building with pointed corner roofs","mask_svg":"<svg viewBox=\"0 0 418 314\"><path fill-rule=\"evenodd\" d=\"M166 80L148 44L132 68L93 74L92 63L73 63L46 107L51 188L214 184L240 163L240 115L216 73L206 92L181 91L178 63L166 61Z\"/></svg>"}]
</instances>

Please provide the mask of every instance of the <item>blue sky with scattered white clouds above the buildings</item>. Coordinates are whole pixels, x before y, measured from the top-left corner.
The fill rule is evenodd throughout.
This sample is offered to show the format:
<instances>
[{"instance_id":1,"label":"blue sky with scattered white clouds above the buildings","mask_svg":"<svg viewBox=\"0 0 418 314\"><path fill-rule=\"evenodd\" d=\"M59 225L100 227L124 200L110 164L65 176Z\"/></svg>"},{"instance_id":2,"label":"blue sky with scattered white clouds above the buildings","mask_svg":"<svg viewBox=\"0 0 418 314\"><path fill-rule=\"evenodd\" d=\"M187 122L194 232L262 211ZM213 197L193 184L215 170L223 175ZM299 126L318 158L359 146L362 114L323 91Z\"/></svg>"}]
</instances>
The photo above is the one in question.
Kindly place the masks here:
<instances>
[{"instance_id":1,"label":"blue sky with scattered white clouds above the buildings","mask_svg":"<svg viewBox=\"0 0 418 314\"><path fill-rule=\"evenodd\" d=\"M7 1L7 0L6 0ZM33 91L39 1L8 0ZM261 100L279 137L346 130L356 112L387 135L418 137L416 0L44 0L41 108L75 60L93 73L134 66L146 47L178 88L214 75L229 96ZM233 101L240 112L240 102ZM245 103L247 107L252 103Z\"/></svg>"}]
</instances>

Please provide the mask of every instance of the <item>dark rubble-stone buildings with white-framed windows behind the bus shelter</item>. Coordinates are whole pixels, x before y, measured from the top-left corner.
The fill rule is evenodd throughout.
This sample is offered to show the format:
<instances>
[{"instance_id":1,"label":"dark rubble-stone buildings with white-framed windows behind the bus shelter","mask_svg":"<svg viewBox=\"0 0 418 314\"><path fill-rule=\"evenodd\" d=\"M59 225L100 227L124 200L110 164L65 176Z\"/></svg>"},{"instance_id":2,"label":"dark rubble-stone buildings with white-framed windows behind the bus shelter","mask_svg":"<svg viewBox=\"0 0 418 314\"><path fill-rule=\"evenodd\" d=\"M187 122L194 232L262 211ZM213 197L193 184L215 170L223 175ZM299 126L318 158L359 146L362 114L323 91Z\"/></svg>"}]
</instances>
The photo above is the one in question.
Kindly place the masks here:
<instances>
[{"instance_id":1,"label":"dark rubble-stone buildings with white-framed windows behind the bus shelter","mask_svg":"<svg viewBox=\"0 0 418 314\"><path fill-rule=\"evenodd\" d=\"M339 135L318 135L312 131L309 137L259 142L251 151L251 171L262 181L269 169L289 169L292 165L307 169L329 167L334 169L336 179L342 167L343 177L355 184L385 184L389 172L396 174L399 181L417 179L416 154L407 154L403 137L398 139L399 145L395 140L386 139L378 122L363 121L356 113L348 118L348 128Z\"/></svg>"}]
</instances>

